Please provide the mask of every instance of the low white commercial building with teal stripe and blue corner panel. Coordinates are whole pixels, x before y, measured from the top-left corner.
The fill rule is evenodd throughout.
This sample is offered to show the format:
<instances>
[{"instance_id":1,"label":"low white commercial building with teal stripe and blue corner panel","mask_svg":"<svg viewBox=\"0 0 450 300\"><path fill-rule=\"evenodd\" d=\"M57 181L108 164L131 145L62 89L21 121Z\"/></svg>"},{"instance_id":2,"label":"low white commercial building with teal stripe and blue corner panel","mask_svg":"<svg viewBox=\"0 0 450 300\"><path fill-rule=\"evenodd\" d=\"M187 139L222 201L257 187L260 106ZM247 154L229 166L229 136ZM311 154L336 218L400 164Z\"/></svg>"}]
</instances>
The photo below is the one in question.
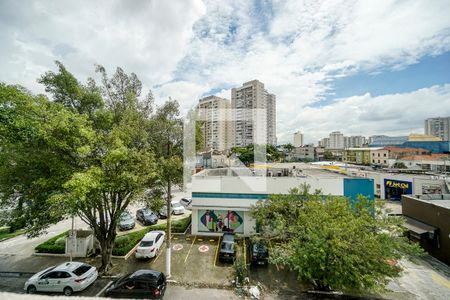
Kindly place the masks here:
<instances>
[{"instance_id":1,"label":"low white commercial building with teal stripe and blue corner panel","mask_svg":"<svg viewBox=\"0 0 450 300\"><path fill-rule=\"evenodd\" d=\"M232 231L255 233L250 209L270 194L288 194L294 187L309 184L325 195L358 194L373 199L373 180L351 178L306 164L282 164L268 169L224 168L204 170L192 177L192 234L221 235Z\"/></svg>"}]
</instances>

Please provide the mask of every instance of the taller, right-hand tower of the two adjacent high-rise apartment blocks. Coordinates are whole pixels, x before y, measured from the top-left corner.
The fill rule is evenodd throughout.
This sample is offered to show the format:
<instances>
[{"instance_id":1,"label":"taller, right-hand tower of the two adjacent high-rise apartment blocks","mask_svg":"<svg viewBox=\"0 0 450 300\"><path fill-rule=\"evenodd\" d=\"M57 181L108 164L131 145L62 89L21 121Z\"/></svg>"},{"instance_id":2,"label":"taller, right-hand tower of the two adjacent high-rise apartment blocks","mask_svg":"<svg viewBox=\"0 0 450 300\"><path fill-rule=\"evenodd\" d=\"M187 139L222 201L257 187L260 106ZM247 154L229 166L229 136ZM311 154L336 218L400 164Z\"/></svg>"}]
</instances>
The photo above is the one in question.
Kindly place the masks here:
<instances>
[{"instance_id":1,"label":"taller, right-hand tower of the two adjacent high-rise apartment blocks","mask_svg":"<svg viewBox=\"0 0 450 300\"><path fill-rule=\"evenodd\" d=\"M231 89L234 146L276 144L276 99L258 80Z\"/></svg>"}]
</instances>

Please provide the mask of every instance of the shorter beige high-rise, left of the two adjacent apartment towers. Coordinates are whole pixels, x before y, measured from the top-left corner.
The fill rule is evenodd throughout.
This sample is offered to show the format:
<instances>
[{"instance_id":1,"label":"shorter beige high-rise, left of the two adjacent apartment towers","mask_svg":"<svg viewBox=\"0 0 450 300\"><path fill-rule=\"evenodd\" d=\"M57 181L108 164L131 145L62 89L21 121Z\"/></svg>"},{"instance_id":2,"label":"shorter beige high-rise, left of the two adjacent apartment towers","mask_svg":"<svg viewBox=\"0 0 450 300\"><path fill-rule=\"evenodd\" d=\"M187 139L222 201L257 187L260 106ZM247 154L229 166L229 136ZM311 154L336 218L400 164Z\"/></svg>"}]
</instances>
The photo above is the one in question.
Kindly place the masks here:
<instances>
[{"instance_id":1,"label":"shorter beige high-rise, left of the two adjacent apartment towers","mask_svg":"<svg viewBox=\"0 0 450 300\"><path fill-rule=\"evenodd\" d=\"M223 151L231 147L230 107L230 100L216 96L199 100L197 108L206 149Z\"/></svg>"}]
</instances>

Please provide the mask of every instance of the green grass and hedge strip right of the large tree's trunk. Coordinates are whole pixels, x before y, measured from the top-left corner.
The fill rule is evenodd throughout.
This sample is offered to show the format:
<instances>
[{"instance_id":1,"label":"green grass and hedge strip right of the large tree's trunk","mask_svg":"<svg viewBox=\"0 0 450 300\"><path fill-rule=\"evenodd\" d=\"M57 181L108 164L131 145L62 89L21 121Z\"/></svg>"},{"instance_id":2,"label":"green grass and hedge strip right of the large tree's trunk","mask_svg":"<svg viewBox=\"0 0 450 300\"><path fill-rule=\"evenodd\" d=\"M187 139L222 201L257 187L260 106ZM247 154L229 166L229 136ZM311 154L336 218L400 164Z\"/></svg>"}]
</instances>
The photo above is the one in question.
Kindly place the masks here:
<instances>
[{"instance_id":1,"label":"green grass and hedge strip right of the large tree's trunk","mask_svg":"<svg viewBox=\"0 0 450 300\"><path fill-rule=\"evenodd\" d=\"M186 231L186 229L190 223L191 223L191 216L173 221L172 222L172 232L173 233L183 233ZM166 223L152 225L152 226L149 226L149 227L139 230L139 231L135 231L135 232L131 232L128 234L118 236L114 243L112 254L116 255L116 256L125 256L128 252L131 251L131 249L133 249L134 246L136 246L136 244L140 240L142 240L142 238L144 237L144 235L147 232L154 231L154 230L166 230L166 227L167 227Z\"/></svg>"}]
</instances>

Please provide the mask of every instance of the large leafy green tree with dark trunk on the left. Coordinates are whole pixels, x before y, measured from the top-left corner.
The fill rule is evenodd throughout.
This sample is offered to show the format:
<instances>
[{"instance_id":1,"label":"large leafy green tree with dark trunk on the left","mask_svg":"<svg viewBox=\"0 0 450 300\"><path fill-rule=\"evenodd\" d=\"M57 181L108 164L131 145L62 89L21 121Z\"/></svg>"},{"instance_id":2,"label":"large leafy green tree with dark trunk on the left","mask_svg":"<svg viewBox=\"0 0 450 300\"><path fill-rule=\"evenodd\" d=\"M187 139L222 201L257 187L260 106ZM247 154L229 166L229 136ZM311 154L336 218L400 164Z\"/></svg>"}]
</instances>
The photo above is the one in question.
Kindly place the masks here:
<instances>
[{"instance_id":1,"label":"large leafy green tree with dark trunk on the left","mask_svg":"<svg viewBox=\"0 0 450 300\"><path fill-rule=\"evenodd\" d=\"M153 98L141 96L137 76L120 68L109 78L97 66L98 87L92 79L79 83L57 66L58 72L39 79L54 101L1 86L2 205L27 202L31 236L79 216L93 228L101 247L100 271L106 272L120 214L159 176L151 136Z\"/></svg>"}]
</instances>

